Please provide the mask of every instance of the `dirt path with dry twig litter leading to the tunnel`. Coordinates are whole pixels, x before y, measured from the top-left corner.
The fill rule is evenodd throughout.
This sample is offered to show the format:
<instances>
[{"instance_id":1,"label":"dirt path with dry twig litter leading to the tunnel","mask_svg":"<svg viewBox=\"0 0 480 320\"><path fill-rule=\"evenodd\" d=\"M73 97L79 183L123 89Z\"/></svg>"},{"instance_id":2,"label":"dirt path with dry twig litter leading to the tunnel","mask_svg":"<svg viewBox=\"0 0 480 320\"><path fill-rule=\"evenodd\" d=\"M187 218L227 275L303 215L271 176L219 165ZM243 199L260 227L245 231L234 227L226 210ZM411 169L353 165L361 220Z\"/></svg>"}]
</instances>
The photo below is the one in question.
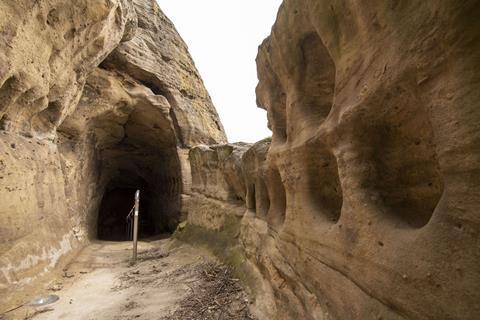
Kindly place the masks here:
<instances>
[{"instance_id":1,"label":"dirt path with dry twig litter leading to the tunnel","mask_svg":"<svg viewBox=\"0 0 480 320\"><path fill-rule=\"evenodd\" d=\"M238 281L201 250L159 240L139 244L133 267L130 255L130 243L90 245L45 292L59 301L5 319L253 319Z\"/></svg>"}]
</instances>

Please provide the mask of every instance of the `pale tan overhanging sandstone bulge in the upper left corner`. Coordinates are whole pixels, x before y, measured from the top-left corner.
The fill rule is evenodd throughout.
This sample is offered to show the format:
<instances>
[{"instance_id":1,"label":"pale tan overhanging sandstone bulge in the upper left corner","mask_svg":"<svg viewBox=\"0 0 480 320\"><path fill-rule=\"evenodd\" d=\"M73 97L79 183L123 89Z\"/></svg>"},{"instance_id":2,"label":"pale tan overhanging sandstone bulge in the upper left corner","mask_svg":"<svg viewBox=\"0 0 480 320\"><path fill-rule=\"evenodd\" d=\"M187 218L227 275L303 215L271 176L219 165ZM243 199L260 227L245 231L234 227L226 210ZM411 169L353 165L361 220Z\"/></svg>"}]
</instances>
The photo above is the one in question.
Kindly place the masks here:
<instances>
[{"instance_id":1,"label":"pale tan overhanging sandstone bulge in the upper left corner","mask_svg":"<svg viewBox=\"0 0 480 320\"><path fill-rule=\"evenodd\" d=\"M3 1L1 125L52 137L74 109L86 77L136 27L128 0Z\"/></svg>"}]
</instances>

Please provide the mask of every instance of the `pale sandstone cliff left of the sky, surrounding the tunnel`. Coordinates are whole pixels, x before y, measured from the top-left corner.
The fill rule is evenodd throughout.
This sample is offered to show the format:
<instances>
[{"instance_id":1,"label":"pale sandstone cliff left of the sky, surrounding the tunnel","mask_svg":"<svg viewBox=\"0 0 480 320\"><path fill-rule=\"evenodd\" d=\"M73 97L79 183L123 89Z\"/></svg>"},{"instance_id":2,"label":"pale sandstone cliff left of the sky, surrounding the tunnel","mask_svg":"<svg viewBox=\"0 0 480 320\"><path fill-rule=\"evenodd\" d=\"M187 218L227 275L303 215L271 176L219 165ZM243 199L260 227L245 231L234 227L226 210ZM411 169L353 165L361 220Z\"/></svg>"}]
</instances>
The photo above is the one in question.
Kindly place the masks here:
<instances>
[{"instance_id":1,"label":"pale sandstone cliff left of the sky, surrounding the tunnel","mask_svg":"<svg viewBox=\"0 0 480 320\"><path fill-rule=\"evenodd\" d=\"M1 312L97 237L113 188L174 230L188 148L226 138L155 1L2 1L0 40Z\"/></svg>"}]
</instances>

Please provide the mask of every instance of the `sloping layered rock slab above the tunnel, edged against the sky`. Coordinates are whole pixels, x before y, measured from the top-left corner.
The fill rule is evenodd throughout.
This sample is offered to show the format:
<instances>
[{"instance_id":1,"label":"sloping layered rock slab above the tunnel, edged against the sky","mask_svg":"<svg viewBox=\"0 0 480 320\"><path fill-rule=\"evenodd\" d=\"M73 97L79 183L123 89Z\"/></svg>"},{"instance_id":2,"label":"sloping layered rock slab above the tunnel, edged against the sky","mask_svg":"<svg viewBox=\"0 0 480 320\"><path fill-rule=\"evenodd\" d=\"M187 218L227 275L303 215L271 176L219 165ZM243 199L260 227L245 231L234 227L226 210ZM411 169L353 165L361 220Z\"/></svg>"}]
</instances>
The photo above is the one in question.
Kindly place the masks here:
<instances>
[{"instance_id":1,"label":"sloping layered rock slab above the tunnel, edged against the sky","mask_svg":"<svg viewBox=\"0 0 480 320\"><path fill-rule=\"evenodd\" d=\"M136 36L118 46L102 66L128 73L168 100L180 146L226 142L210 96L173 24L155 1L134 2Z\"/></svg>"}]
</instances>

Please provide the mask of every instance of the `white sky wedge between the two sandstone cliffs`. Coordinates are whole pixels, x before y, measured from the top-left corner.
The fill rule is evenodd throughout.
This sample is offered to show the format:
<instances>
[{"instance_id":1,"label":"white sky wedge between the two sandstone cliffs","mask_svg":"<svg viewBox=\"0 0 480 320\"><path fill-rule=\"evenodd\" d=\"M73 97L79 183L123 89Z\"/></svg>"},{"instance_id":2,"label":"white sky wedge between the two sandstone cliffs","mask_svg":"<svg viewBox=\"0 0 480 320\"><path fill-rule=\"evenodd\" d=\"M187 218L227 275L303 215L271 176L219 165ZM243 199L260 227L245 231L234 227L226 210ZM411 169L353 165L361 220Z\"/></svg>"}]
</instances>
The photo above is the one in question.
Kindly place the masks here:
<instances>
[{"instance_id":1,"label":"white sky wedge between the two sandstone cliffs","mask_svg":"<svg viewBox=\"0 0 480 320\"><path fill-rule=\"evenodd\" d=\"M270 136L266 112L255 102L255 57L282 0L157 2L187 43L229 142Z\"/></svg>"}]
</instances>

